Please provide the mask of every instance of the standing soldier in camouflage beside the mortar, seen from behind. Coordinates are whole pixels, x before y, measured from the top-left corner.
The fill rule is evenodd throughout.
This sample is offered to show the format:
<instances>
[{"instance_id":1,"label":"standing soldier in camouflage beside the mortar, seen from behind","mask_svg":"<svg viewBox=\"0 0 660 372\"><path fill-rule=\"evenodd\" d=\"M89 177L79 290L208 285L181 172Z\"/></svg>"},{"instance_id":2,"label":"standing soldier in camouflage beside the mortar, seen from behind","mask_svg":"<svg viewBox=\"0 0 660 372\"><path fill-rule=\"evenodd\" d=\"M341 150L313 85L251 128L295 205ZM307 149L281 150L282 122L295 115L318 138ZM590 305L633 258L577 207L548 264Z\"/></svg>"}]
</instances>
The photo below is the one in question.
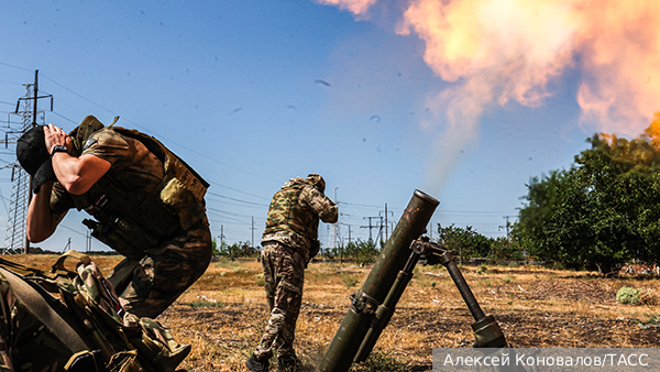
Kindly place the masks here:
<instances>
[{"instance_id":1,"label":"standing soldier in camouflage beside the mortar, seen from behind","mask_svg":"<svg viewBox=\"0 0 660 372\"><path fill-rule=\"evenodd\" d=\"M294 371L296 320L300 311L305 267L320 248L319 219L334 223L337 206L323 192L326 182L318 174L306 179L289 179L273 196L266 229L262 237L262 263L271 318L264 335L248 360L251 371L267 371L277 351L277 371Z\"/></svg>"}]
</instances>

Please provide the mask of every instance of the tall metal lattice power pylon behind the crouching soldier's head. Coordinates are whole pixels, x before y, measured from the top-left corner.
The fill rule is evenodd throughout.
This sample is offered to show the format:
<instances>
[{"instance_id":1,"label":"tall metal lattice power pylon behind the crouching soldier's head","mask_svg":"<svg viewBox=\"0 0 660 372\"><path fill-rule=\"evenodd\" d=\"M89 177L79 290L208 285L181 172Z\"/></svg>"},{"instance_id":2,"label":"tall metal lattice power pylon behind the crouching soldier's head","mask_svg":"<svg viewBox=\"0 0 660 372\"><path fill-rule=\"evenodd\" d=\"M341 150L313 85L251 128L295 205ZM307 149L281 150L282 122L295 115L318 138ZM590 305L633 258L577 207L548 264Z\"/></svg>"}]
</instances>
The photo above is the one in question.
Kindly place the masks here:
<instances>
[{"instance_id":1,"label":"tall metal lattice power pylon behind the crouching soldier's head","mask_svg":"<svg viewBox=\"0 0 660 372\"><path fill-rule=\"evenodd\" d=\"M7 132L8 134L11 133L18 135L11 139L9 135L6 135L6 147L10 142L15 143L15 140L18 140L20 135L36 125L36 116L40 113L37 110L37 100L40 98L51 98L51 111L53 111L53 96L38 96L38 69L34 72L34 84L23 84L23 86L25 87L25 97L19 98L15 111L10 112L22 118L21 129L19 131ZM23 102L23 108L19 111L21 101ZM32 188L30 187L32 177L28 175L18 161L6 167L12 169L12 192L2 254L7 253L8 248L11 250L11 253L18 253L20 251L29 253L30 241L28 240L25 225L28 219L28 205L32 198Z\"/></svg>"}]
</instances>

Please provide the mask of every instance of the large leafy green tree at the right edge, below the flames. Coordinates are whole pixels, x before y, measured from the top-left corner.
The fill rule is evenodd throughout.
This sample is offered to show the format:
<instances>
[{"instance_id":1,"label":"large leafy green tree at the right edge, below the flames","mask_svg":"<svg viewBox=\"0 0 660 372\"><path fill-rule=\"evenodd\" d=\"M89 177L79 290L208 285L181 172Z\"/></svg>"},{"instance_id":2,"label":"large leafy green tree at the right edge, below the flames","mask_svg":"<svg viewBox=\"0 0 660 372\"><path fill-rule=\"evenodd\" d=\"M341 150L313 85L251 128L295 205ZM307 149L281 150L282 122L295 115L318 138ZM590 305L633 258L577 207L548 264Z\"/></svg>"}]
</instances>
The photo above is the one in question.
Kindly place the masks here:
<instances>
[{"instance_id":1,"label":"large leafy green tree at the right edge, below the flames","mask_svg":"<svg viewBox=\"0 0 660 372\"><path fill-rule=\"evenodd\" d=\"M531 254L609 272L660 256L660 119L634 140L594 134L568 171L532 178L513 236Z\"/></svg>"}]
</instances>

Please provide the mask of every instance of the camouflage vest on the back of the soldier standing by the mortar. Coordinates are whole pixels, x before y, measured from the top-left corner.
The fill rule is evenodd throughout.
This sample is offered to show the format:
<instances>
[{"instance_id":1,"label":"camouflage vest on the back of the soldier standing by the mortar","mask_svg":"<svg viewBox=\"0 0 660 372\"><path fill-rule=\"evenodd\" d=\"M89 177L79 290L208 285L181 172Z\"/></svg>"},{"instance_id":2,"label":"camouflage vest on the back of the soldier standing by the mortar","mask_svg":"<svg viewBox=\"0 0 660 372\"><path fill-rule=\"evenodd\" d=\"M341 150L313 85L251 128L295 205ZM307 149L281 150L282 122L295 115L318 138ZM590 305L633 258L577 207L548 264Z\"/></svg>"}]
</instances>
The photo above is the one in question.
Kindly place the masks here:
<instances>
[{"instance_id":1,"label":"camouflage vest on the back of the soldier standing by the mortar","mask_svg":"<svg viewBox=\"0 0 660 372\"><path fill-rule=\"evenodd\" d=\"M275 193L268 208L264 236L279 231L293 231L312 242L316 241L319 218L310 210L302 209L298 203L306 186L309 185L294 184Z\"/></svg>"}]
</instances>

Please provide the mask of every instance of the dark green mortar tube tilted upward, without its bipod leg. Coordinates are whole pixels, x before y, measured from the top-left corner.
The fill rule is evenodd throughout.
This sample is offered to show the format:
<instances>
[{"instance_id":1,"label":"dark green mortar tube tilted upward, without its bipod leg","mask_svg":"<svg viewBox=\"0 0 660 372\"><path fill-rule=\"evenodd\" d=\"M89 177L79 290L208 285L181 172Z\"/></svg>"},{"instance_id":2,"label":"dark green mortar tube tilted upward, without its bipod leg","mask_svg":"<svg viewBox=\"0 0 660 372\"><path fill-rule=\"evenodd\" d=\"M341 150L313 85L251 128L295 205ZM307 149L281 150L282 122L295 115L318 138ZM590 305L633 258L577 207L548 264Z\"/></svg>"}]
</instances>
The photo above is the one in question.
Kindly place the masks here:
<instances>
[{"instance_id":1,"label":"dark green mortar tube tilted upward, without its bipod leg","mask_svg":"<svg viewBox=\"0 0 660 372\"><path fill-rule=\"evenodd\" d=\"M355 293L351 308L319 362L319 372L345 372L351 368L375 317L376 307L385 300L410 255L410 243L424 233L439 204L433 197L415 190L370 275Z\"/></svg>"}]
</instances>

